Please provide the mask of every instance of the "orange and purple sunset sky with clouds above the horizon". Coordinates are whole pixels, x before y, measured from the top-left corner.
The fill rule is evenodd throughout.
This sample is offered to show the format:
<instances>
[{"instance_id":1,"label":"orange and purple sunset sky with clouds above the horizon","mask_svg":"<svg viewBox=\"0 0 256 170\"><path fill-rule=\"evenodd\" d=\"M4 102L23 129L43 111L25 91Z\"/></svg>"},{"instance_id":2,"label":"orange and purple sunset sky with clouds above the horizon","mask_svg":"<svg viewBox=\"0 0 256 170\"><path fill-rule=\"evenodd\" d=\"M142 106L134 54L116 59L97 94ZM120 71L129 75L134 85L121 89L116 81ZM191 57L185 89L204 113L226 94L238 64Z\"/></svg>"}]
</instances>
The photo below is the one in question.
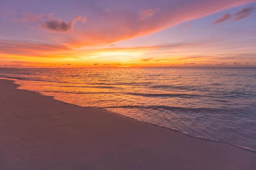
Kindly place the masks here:
<instances>
[{"instance_id":1,"label":"orange and purple sunset sky with clouds above the horizon","mask_svg":"<svg viewBox=\"0 0 256 170\"><path fill-rule=\"evenodd\" d=\"M256 0L0 0L0 67L256 67Z\"/></svg>"}]
</instances>

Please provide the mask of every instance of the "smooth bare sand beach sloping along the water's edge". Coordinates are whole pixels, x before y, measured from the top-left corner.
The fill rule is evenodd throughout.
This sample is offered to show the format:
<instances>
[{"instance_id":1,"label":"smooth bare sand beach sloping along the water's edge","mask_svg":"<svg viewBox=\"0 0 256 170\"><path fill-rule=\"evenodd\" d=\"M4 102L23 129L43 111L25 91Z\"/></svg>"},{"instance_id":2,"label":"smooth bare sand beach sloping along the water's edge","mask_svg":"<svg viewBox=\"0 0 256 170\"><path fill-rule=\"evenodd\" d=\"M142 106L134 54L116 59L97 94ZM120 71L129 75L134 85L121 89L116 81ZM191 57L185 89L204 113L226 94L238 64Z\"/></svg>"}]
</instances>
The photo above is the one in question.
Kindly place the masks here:
<instances>
[{"instance_id":1,"label":"smooth bare sand beach sloping along the water's edge","mask_svg":"<svg viewBox=\"0 0 256 170\"><path fill-rule=\"evenodd\" d=\"M256 170L256 152L0 79L0 170Z\"/></svg>"}]
</instances>

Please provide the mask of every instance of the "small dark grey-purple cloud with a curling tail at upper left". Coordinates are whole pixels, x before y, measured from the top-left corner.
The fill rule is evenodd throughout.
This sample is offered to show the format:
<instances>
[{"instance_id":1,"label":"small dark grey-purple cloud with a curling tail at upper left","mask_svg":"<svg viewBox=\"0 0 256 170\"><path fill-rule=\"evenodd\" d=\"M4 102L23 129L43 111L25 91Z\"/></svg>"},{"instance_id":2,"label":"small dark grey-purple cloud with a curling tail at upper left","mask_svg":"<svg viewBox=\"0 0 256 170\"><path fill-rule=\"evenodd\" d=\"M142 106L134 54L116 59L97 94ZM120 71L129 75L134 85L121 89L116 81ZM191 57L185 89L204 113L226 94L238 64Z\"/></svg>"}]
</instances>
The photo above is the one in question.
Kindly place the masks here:
<instances>
[{"instance_id":1,"label":"small dark grey-purple cloud with a curling tail at upper left","mask_svg":"<svg viewBox=\"0 0 256 170\"><path fill-rule=\"evenodd\" d=\"M81 20L82 22L86 22L87 18L81 17L80 15L77 15L74 20L70 22L63 21L62 19L59 20L53 20L52 17L49 17L48 20L45 21L45 23L42 25L44 28L49 29L51 31L56 32L69 32L72 31L73 26L77 20Z\"/></svg>"}]
</instances>

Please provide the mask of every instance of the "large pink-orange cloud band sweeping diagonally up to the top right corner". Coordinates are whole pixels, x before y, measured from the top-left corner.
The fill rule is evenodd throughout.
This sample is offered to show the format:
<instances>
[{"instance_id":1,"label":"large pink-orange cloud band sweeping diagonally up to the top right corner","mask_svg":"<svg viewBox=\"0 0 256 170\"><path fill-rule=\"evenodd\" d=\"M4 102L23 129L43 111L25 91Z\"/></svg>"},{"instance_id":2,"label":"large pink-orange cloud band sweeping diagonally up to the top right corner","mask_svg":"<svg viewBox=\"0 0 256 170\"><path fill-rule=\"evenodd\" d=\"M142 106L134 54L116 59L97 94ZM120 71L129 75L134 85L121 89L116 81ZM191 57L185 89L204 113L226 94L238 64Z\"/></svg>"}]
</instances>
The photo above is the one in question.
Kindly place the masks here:
<instances>
[{"instance_id":1,"label":"large pink-orange cloud band sweeping diagonally up to the top right corner","mask_svg":"<svg viewBox=\"0 0 256 170\"><path fill-rule=\"evenodd\" d=\"M146 36L163 29L170 28L182 22L202 18L213 13L237 7L255 0L185 0L150 2L151 7L146 10L135 11L112 8L115 15L108 15L101 19L101 14L90 19L86 27L73 31L65 42L67 46L78 48ZM159 5L161 4L161 5ZM126 4L123 4L123 6ZM138 16L139 13L139 16ZM138 18L139 17L139 18ZM71 43L75 42L75 43Z\"/></svg>"}]
</instances>

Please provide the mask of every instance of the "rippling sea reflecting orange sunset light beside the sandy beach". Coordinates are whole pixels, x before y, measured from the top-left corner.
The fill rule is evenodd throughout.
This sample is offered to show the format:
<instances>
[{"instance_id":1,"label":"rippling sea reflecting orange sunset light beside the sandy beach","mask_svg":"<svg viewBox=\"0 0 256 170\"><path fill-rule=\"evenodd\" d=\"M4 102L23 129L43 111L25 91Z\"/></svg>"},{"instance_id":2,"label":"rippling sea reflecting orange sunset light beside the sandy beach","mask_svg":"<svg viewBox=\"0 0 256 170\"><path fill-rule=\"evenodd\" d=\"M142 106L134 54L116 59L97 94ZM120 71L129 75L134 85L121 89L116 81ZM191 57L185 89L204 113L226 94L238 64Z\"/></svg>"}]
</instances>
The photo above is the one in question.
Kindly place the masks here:
<instances>
[{"instance_id":1,"label":"rippling sea reflecting orange sunset light beside the sandy beach","mask_svg":"<svg viewBox=\"0 0 256 170\"><path fill-rule=\"evenodd\" d=\"M20 89L256 151L256 68L0 68Z\"/></svg>"}]
</instances>

